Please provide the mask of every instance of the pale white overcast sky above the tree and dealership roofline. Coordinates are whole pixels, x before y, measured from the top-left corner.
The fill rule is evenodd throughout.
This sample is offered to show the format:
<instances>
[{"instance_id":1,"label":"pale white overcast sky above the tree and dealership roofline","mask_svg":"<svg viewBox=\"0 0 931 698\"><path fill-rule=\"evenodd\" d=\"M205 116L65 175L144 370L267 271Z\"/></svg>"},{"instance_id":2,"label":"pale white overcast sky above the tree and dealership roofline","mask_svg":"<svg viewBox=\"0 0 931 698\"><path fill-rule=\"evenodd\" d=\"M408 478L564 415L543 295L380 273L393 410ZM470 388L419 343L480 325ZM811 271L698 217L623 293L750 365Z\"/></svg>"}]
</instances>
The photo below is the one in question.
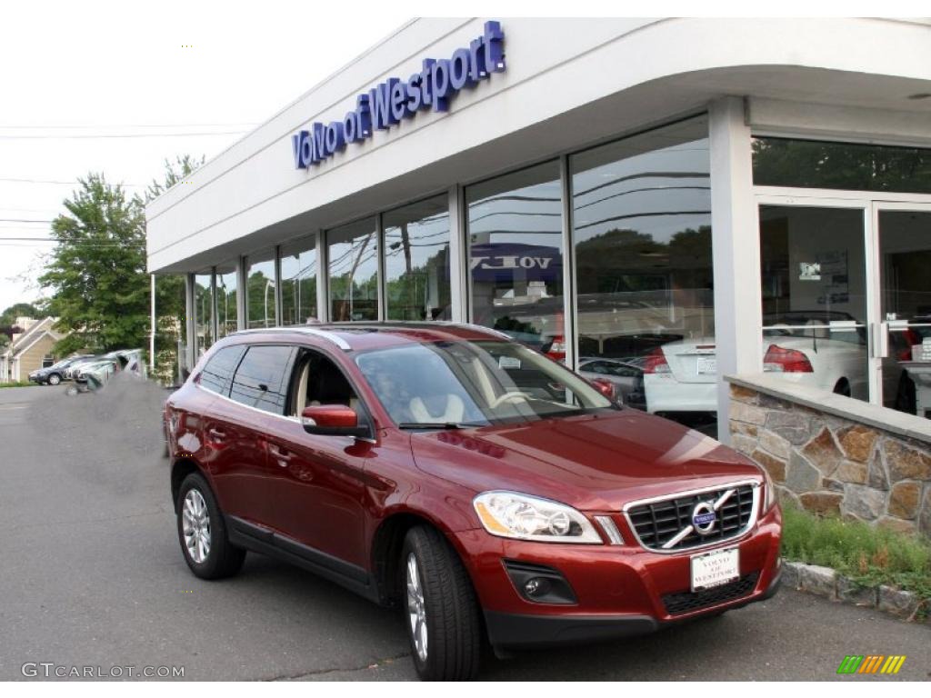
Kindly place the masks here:
<instances>
[{"instance_id":1,"label":"pale white overcast sky above the tree and dealership roofline","mask_svg":"<svg viewBox=\"0 0 931 698\"><path fill-rule=\"evenodd\" d=\"M409 19L403 8L354 12L347 26L317 10L274 0L5 4L0 311L43 295L36 278L53 246L11 238L47 237L78 177L102 172L142 193L166 158L219 154Z\"/></svg>"}]
</instances>

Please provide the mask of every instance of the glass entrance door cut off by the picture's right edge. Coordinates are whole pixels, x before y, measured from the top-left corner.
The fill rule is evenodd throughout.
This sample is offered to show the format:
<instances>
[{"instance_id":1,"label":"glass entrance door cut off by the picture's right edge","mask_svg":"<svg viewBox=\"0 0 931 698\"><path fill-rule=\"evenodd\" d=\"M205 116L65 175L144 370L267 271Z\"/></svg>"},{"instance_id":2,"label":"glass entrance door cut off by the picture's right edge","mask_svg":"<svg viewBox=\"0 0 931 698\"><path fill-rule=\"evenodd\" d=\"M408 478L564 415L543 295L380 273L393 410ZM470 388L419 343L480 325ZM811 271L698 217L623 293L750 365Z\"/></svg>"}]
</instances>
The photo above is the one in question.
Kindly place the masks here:
<instances>
[{"instance_id":1,"label":"glass entrance door cut off by the picture's right edge","mask_svg":"<svg viewBox=\"0 0 931 698\"><path fill-rule=\"evenodd\" d=\"M931 416L931 204L873 205L882 404Z\"/></svg>"}]
</instances>

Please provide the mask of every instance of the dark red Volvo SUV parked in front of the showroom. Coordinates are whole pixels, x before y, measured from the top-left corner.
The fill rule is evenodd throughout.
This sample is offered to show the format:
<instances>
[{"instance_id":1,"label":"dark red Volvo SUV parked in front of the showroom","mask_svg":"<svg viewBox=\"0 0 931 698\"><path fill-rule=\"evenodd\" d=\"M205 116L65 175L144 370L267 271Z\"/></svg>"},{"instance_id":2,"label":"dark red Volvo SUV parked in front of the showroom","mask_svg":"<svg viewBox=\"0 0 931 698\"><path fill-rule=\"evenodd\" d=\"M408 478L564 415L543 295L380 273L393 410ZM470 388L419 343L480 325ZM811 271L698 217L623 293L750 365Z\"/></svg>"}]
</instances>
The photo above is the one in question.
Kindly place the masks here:
<instances>
[{"instance_id":1,"label":"dark red Volvo SUV parked in front of the showroom","mask_svg":"<svg viewBox=\"0 0 931 698\"><path fill-rule=\"evenodd\" d=\"M166 405L188 566L247 550L407 611L422 678L772 596L757 465L489 329L247 330Z\"/></svg>"}]
</instances>

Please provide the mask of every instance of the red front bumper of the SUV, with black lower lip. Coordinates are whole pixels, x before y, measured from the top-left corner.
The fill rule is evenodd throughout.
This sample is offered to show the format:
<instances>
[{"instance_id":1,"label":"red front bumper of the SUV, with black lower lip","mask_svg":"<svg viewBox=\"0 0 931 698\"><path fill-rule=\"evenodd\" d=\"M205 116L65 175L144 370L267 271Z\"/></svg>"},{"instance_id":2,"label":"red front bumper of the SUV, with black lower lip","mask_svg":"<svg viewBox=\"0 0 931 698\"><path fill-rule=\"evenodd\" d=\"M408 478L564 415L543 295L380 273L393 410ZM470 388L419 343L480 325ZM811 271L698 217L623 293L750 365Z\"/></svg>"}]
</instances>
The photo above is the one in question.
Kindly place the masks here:
<instances>
[{"instance_id":1,"label":"red front bumper of the SUV, with black lower lip","mask_svg":"<svg viewBox=\"0 0 931 698\"><path fill-rule=\"evenodd\" d=\"M614 520L620 524L619 517ZM529 543L497 538L484 530L457 533L453 544L466 561L492 646L521 649L641 635L772 597L781 572L781 524L776 506L738 539L676 554L654 553L630 543L626 527L624 545ZM733 593L719 587L721 594L699 596L698 603L683 607L683 596L695 597L692 555L731 547L740 550L741 584L734 583ZM558 570L572 587L576 603L527 600L512 583L504 560ZM679 602L676 608L673 599Z\"/></svg>"}]
</instances>

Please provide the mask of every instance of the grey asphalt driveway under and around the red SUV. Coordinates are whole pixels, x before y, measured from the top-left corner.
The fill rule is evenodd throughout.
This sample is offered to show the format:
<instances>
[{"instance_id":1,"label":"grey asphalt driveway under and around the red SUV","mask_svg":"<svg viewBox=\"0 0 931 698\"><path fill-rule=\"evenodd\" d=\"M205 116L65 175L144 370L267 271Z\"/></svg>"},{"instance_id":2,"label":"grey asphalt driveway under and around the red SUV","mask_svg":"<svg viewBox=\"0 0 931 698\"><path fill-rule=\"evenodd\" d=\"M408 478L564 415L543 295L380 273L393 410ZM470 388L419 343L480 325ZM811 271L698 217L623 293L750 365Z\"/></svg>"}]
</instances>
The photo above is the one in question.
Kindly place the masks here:
<instances>
[{"instance_id":1,"label":"grey asphalt driveway under and around the red SUV","mask_svg":"<svg viewBox=\"0 0 931 698\"><path fill-rule=\"evenodd\" d=\"M190 679L415 678L401 619L250 555L236 578L182 559L160 457L167 394L0 390L0 681L25 663L183 666ZM846 654L905 654L897 677L838 677ZM486 679L927 680L931 625L784 590L647 638L489 661Z\"/></svg>"}]
</instances>

